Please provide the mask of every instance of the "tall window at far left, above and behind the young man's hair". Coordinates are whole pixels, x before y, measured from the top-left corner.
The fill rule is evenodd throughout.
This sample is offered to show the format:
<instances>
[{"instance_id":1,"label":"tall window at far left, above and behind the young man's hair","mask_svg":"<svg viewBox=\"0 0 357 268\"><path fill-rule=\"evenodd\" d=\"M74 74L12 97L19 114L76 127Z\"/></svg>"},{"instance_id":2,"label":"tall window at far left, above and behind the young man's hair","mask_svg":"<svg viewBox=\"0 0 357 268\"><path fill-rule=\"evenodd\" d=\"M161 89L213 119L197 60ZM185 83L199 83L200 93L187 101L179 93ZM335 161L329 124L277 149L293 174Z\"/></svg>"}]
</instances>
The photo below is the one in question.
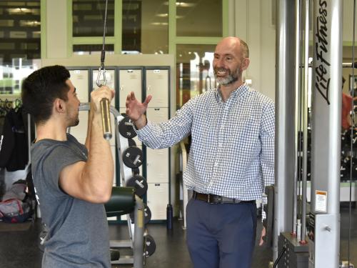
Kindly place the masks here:
<instances>
[{"instance_id":1,"label":"tall window at far left, above and behind the young man's hair","mask_svg":"<svg viewBox=\"0 0 357 268\"><path fill-rule=\"evenodd\" d=\"M39 69L40 0L0 1L0 94L21 93L21 81Z\"/></svg>"}]
</instances>

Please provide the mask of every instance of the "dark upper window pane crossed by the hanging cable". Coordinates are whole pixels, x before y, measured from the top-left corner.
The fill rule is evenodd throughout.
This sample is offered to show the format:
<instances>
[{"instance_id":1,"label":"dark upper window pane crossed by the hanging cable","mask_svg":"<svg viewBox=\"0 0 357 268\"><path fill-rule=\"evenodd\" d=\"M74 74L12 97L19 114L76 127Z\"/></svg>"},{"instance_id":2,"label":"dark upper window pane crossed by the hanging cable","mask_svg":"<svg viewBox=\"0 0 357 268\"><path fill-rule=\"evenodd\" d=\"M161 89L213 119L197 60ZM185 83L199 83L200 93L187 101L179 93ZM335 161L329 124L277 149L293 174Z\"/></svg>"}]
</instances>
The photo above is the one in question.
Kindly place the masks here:
<instances>
[{"instance_id":1,"label":"dark upper window pane crossed by the hanging cable","mask_svg":"<svg viewBox=\"0 0 357 268\"><path fill-rule=\"evenodd\" d=\"M106 1L73 0L73 36L103 36ZM106 36L114 36L114 0L108 0Z\"/></svg>"}]
</instances>

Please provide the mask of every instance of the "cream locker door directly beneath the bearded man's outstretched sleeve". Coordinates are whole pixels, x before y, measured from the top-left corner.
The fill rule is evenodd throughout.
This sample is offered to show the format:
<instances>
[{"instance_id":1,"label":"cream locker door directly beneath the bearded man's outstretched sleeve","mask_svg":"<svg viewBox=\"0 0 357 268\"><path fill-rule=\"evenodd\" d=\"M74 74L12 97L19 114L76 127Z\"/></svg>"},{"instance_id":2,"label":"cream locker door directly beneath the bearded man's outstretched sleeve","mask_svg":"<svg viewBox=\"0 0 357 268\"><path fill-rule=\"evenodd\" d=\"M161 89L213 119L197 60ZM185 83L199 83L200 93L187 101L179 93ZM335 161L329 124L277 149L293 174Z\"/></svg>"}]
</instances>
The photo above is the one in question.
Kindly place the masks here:
<instances>
[{"instance_id":1,"label":"cream locker door directly beneath the bearded man's outstretched sleeve","mask_svg":"<svg viewBox=\"0 0 357 268\"><path fill-rule=\"evenodd\" d=\"M169 182L169 149L146 148L148 182Z\"/></svg>"}]
</instances>

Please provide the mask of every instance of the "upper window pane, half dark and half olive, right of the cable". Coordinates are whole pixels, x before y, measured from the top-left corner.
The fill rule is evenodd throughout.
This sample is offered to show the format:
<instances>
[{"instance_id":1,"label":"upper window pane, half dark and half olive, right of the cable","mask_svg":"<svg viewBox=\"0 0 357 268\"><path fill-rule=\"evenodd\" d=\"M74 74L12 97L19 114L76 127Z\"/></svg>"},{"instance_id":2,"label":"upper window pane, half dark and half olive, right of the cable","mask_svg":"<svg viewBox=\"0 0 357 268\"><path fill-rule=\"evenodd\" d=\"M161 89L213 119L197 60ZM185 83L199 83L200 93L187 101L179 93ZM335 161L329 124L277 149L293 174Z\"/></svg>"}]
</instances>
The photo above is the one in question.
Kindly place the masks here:
<instances>
[{"instance_id":1,"label":"upper window pane, half dark and half olive, right of the cable","mask_svg":"<svg viewBox=\"0 0 357 268\"><path fill-rule=\"evenodd\" d=\"M164 0L123 0L124 54L169 52L169 6Z\"/></svg>"}]
</instances>

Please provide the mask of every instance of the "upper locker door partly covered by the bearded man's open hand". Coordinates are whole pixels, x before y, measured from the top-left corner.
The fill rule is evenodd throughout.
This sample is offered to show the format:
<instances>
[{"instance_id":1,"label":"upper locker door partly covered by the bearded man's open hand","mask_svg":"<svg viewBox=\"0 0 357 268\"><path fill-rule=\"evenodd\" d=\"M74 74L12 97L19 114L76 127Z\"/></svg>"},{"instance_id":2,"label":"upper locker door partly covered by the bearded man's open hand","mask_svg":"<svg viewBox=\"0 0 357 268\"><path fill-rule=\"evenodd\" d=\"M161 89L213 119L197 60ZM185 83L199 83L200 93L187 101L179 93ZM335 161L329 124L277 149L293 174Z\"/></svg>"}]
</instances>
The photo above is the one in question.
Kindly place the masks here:
<instances>
[{"instance_id":1,"label":"upper locker door partly covered by the bearded man's open hand","mask_svg":"<svg viewBox=\"0 0 357 268\"><path fill-rule=\"evenodd\" d=\"M134 91L136 99L142 101L142 74L141 69L119 70L119 107L125 108L126 96ZM118 92L118 90L116 91ZM125 111L124 111L125 112Z\"/></svg>"}]
</instances>

